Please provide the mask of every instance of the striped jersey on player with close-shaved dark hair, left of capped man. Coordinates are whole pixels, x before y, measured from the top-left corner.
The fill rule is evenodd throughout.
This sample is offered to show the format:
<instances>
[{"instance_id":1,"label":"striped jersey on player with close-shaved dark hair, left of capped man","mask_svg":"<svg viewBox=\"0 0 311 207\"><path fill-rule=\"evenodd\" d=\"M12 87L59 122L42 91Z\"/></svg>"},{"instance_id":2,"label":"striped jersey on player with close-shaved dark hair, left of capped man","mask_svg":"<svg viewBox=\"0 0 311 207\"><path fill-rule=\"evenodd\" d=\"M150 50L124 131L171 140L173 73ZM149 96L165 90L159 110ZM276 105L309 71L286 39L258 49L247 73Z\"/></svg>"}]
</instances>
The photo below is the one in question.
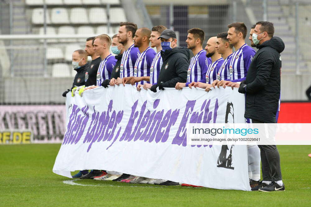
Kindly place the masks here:
<instances>
[{"instance_id":1,"label":"striped jersey on player with close-shaved dark hair, left of capped man","mask_svg":"<svg viewBox=\"0 0 311 207\"><path fill-rule=\"evenodd\" d=\"M155 56L156 52L151 47L148 47L144 52L140 53L134 66L134 77L150 76L150 67ZM144 83L150 82L141 81L140 83L136 83L136 86Z\"/></svg>"}]
</instances>

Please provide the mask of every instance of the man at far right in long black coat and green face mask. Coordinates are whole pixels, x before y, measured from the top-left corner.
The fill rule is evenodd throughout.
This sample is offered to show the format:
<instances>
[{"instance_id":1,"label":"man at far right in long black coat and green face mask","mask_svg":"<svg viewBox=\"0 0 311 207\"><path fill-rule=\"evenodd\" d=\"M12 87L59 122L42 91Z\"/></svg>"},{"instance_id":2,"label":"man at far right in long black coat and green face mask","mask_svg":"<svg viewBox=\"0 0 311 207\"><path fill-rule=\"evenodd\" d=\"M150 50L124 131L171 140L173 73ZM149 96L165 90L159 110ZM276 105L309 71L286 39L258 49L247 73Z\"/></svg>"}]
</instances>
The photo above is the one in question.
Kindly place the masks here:
<instances>
[{"instance_id":1,"label":"man at far right in long black coat and green face mask","mask_svg":"<svg viewBox=\"0 0 311 207\"><path fill-rule=\"evenodd\" d=\"M239 92L246 93L244 117L252 119L252 123L276 123L281 89L280 53L285 45L281 38L273 37L273 34L273 23L256 23L252 39L259 50L248 68L246 80L239 86ZM284 191L279 151L275 145L258 147L263 177L259 191Z\"/></svg>"}]
</instances>

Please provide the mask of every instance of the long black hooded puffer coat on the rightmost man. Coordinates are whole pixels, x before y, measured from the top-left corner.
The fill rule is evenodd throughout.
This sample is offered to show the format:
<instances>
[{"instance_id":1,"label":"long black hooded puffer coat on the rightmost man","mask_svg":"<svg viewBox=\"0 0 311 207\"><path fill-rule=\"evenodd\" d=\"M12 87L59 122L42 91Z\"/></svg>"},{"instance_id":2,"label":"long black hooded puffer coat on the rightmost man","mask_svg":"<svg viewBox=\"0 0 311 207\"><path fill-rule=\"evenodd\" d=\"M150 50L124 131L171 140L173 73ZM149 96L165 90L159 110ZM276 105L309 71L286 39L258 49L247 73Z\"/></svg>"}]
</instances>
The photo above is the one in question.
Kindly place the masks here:
<instances>
[{"instance_id":1,"label":"long black hooded puffer coat on the rightmost man","mask_svg":"<svg viewBox=\"0 0 311 207\"><path fill-rule=\"evenodd\" d=\"M285 45L279 37L258 45L246 76L245 118L276 123L281 90L281 55Z\"/></svg>"}]
</instances>

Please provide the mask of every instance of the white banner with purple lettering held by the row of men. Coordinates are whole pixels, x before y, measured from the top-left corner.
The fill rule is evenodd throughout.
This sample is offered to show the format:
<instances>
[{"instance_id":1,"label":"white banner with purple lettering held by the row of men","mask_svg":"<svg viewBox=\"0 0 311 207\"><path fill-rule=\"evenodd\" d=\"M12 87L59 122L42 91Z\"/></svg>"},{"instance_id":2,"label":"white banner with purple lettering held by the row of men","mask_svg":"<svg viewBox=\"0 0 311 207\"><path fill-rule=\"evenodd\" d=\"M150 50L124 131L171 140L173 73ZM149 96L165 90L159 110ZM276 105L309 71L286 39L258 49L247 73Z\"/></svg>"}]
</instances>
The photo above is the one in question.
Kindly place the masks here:
<instances>
[{"instance_id":1,"label":"white banner with purple lettering held by the row of men","mask_svg":"<svg viewBox=\"0 0 311 207\"><path fill-rule=\"evenodd\" d=\"M69 93L68 93L69 94ZM246 146L187 146L188 123L245 123L237 89L131 85L67 94L68 119L53 172L104 169L217 189L249 191Z\"/></svg>"}]
</instances>

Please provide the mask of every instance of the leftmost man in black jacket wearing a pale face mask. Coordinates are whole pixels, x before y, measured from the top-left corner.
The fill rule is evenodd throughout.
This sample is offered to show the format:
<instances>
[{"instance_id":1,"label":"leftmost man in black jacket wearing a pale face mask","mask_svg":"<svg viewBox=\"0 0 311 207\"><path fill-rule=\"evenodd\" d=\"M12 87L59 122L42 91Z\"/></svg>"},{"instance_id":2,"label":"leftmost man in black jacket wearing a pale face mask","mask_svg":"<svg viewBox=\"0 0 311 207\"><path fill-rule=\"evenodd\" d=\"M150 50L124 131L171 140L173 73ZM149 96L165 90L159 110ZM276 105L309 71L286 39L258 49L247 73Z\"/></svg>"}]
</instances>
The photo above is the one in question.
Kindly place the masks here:
<instances>
[{"instance_id":1,"label":"leftmost man in black jacket wearing a pale face mask","mask_svg":"<svg viewBox=\"0 0 311 207\"><path fill-rule=\"evenodd\" d=\"M72 53L72 67L74 70L77 71L77 74L73 80L72 83L72 94L74 94L74 91L79 86L85 85L85 72L87 68L87 55L84 50L76 50ZM63 92L63 97L66 97L66 94L70 90Z\"/></svg>"}]
</instances>

